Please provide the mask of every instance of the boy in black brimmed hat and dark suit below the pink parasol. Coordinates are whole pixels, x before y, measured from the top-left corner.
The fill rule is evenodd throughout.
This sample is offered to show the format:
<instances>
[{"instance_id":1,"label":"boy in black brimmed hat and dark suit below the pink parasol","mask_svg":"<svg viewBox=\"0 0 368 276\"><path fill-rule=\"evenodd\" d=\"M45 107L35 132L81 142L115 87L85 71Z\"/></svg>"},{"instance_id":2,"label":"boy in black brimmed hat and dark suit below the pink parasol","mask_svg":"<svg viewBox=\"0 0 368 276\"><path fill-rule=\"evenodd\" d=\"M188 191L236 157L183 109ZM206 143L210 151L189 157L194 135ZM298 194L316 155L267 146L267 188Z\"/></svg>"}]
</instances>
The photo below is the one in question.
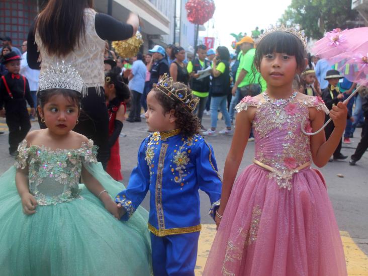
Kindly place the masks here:
<instances>
[{"instance_id":1,"label":"boy in black brimmed hat and dark suit below the pink parasol","mask_svg":"<svg viewBox=\"0 0 368 276\"><path fill-rule=\"evenodd\" d=\"M328 70L326 72L326 77L324 79L328 81L328 86L322 91L322 99L325 102L326 107L329 110L331 110L333 106L337 105L338 102L342 102L344 100L344 95L340 93L340 89L339 87L337 87L339 80L343 77L344 76L341 75L340 72L337 70ZM348 114L348 119L350 117L351 115ZM329 118L330 116L326 115L325 122L327 122ZM334 128L335 128L335 125L333 124L333 121L331 121L326 126L325 128L326 140L330 137ZM342 139L340 139L340 143L338 144L335 152L333 153L333 159L330 159L330 161L344 160L347 158L346 155L343 155L341 153L341 144L342 144Z\"/></svg>"}]
</instances>

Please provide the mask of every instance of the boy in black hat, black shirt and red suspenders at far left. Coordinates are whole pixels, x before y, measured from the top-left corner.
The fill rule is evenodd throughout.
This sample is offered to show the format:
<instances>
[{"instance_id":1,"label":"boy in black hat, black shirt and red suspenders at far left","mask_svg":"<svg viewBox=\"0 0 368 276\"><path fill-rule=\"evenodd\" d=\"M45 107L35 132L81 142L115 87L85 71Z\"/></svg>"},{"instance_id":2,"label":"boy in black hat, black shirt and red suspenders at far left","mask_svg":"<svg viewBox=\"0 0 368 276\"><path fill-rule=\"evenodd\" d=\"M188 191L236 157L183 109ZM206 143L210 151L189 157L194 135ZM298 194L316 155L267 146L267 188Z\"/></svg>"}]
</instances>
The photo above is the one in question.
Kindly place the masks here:
<instances>
[{"instance_id":1,"label":"boy in black hat, black shirt and red suspenders at far left","mask_svg":"<svg viewBox=\"0 0 368 276\"><path fill-rule=\"evenodd\" d=\"M12 51L4 56L3 64L7 67L8 73L0 79L0 116L6 118L9 128L9 153L15 156L19 143L31 129L26 100L33 116L35 106L28 80L19 74L21 57Z\"/></svg>"}]
</instances>

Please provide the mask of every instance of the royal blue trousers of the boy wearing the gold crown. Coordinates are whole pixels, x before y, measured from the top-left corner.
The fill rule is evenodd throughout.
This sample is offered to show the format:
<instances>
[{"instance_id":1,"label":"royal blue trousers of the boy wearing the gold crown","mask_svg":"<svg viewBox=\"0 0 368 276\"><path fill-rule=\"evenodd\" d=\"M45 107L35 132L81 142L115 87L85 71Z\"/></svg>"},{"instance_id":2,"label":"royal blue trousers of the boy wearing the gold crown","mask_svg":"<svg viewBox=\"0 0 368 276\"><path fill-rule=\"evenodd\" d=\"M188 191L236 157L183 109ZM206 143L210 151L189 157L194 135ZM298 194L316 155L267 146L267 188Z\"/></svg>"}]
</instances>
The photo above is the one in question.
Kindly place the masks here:
<instances>
[{"instance_id":1,"label":"royal blue trousers of the boy wearing the gold crown","mask_svg":"<svg viewBox=\"0 0 368 276\"><path fill-rule=\"evenodd\" d=\"M151 233L154 276L194 276L200 232L157 237Z\"/></svg>"}]
</instances>

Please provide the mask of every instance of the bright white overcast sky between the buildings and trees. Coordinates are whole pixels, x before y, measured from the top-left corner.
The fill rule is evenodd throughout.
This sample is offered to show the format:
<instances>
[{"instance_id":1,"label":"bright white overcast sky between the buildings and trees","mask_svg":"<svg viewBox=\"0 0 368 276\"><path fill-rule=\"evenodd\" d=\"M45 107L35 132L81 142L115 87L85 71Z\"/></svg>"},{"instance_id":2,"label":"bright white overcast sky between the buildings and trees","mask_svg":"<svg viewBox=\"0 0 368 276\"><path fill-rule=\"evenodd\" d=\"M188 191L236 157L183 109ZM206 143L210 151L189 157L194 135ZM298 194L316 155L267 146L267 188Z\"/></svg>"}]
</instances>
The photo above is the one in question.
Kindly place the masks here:
<instances>
[{"instance_id":1,"label":"bright white overcast sky between the buildings and trees","mask_svg":"<svg viewBox=\"0 0 368 276\"><path fill-rule=\"evenodd\" d=\"M231 33L246 32L251 35L256 26L259 30L266 29L270 24L275 24L291 4L291 0L214 1L215 14L213 19L205 23L207 30L200 32L200 36L213 36L217 38L217 43L227 47L234 40Z\"/></svg>"}]
</instances>

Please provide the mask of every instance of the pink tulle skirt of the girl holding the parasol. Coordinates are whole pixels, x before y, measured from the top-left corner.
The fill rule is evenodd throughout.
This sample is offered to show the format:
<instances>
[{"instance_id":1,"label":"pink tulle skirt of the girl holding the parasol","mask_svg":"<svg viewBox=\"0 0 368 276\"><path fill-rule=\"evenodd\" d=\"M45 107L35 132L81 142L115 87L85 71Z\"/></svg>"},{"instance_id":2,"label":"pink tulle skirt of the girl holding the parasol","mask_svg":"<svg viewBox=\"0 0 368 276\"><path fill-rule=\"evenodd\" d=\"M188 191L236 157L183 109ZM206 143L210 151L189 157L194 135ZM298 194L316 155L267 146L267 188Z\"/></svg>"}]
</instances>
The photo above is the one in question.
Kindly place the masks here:
<instances>
[{"instance_id":1,"label":"pink tulle skirt of the girl holding the parasol","mask_svg":"<svg viewBox=\"0 0 368 276\"><path fill-rule=\"evenodd\" d=\"M203 275L347 275L321 173L295 173L291 191L268 173L253 164L237 178Z\"/></svg>"}]
</instances>

